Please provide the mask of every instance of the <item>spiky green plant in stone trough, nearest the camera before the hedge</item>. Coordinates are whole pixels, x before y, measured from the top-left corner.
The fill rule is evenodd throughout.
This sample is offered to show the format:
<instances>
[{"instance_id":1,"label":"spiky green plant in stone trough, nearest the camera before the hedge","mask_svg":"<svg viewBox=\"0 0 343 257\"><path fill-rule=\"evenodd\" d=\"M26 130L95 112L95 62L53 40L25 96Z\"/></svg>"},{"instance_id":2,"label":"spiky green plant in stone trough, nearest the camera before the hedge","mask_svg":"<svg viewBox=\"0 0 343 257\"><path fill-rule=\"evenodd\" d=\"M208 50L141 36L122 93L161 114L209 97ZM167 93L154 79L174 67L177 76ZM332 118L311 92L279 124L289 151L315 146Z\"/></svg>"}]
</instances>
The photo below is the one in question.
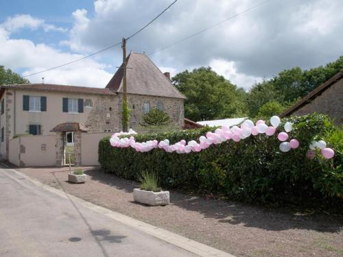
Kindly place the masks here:
<instances>
[{"instance_id":1,"label":"spiky green plant in stone trough, nearest the camera before the hedge","mask_svg":"<svg viewBox=\"0 0 343 257\"><path fill-rule=\"evenodd\" d=\"M165 206L169 204L169 191L162 191L158 186L158 180L155 174L141 174L141 187L134 188L133 199L141 204L150 206Z\"/></svg>"}]
</instances>

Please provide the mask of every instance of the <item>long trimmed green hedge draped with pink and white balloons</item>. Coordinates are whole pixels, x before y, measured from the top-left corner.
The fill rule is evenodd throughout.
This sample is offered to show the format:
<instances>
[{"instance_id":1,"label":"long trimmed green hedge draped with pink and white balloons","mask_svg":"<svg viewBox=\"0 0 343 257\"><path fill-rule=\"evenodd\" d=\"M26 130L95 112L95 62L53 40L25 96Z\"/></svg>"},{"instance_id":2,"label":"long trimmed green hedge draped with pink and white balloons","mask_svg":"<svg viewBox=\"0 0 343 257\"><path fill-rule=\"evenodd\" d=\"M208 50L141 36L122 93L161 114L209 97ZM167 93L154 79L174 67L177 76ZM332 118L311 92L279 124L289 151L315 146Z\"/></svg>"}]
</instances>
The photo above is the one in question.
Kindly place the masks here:
<instances>
[{"instance_id":1,"label":"long trimmed green hedge draped with pink and white balloons","mask_svg":"<svg viewBox=\"0 0 343 257\"><path fill-rule=\"evenodd\" d=\"M279 151L280 141L276 136L265 135L250 136L239 143L229 140L191 154L166 153L162 149L141 153L130 147L111 147L106 137L99 142L99 163L102 171L122 178L137 180L142 171L150 171L158 174L164 188L214 193L239 201L342 201L342 130L318 114L284 119L282 127L286 121L291 121L294 127L290 138L300 142L298 149L287 153ZM181 139L197 140L209 130L204 127L139 134L135 139L143 142L168 138L170 143L176 143ZM314 139L329 142L335 157L324 160L318 150L316 158L309 160L307 151Z\"/></svg>"}]
</instances>

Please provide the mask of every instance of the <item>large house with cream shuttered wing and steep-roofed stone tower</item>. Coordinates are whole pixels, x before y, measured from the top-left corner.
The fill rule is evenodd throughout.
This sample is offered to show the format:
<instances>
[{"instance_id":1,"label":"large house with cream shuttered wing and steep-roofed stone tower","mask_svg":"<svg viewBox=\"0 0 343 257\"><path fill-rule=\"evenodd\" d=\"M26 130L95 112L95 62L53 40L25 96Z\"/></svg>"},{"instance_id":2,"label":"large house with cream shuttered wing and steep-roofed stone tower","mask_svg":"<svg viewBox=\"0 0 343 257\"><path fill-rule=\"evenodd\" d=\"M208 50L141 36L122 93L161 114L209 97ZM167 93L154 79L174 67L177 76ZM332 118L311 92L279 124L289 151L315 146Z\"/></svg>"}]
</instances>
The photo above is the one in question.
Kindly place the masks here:
<instances>
[{"instance_id":1,"label":"large house with cream shuttered wing and steep-roofed stone tower","mask_svg":"<svg viewBox=\"0 0 343 257\"><path fill-rule=\"evenodd\" d=\"M171 125L184 125L185 96L169 77L141 53L127 58L130 127L139 127L143 114L161 109ZM58 134L63 145L73 145L74 134L121 130L122 67L106 88L55 84L16 84L0 87L0 154L8 157L9 140L20 134ZM60 143L56 142L57 145Z\"/></svg>"}]
</instances>

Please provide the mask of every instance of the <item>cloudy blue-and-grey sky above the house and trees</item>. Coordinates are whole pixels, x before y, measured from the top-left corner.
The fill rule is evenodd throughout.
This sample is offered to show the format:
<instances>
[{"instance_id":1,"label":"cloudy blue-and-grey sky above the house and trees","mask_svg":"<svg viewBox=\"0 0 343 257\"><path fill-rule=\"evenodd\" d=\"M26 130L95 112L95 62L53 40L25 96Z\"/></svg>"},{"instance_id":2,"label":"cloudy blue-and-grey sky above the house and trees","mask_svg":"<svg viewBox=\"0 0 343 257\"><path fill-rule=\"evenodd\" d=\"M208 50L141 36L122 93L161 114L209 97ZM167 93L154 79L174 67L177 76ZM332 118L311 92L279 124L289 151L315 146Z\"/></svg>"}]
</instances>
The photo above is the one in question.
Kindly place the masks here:
<instances>
[{"instance_id":1,"label":"cloudy blue-and-grey sky above the house and trees","mask_svg":"<svg viewBox=\"0 0 343 257\"><path fill-rule=\"evenodd\" d=\"M1 1L0 65L23 76L121 41L172 0ZM127 43L171 75L211 66L248 90L284 69L309 69L343 55L342 0L178 0ZM233 19L174 45L206 27ZM169 45L171 47L165 48ZM164 49L165 48L165 49ZM161 50L161 51L159 51ZM120 45L27 77L30 82L103 88L121 65Z\"/></svg>"}]
</instances>

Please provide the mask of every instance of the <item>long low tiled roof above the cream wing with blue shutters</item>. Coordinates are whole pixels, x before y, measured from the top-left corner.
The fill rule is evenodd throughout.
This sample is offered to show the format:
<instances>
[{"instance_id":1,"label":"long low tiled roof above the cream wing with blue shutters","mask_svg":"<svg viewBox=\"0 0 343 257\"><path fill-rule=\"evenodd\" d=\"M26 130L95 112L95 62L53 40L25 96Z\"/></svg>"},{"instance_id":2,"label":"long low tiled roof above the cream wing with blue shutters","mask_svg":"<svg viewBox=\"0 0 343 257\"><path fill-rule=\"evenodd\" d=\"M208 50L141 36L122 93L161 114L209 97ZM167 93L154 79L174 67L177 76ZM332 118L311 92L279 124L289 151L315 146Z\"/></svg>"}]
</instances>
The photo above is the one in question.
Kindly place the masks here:
<instances>
[{"instance_id":1,"label":"long low tiled roof above the cream wing with blue shutters","mask_svg":"<svg viewBox=\"0 0 343 257\"><path fill-rule=\"evenodd\" d=\"M14 85L1 85L1 88L21 88L27 90L40 90L40 91L55 91L67 93L84 93L95 95L115 95L108 88L88 88L86 86L66 86L56 84L14 84Z\"/></svg>"}]
</instances>

